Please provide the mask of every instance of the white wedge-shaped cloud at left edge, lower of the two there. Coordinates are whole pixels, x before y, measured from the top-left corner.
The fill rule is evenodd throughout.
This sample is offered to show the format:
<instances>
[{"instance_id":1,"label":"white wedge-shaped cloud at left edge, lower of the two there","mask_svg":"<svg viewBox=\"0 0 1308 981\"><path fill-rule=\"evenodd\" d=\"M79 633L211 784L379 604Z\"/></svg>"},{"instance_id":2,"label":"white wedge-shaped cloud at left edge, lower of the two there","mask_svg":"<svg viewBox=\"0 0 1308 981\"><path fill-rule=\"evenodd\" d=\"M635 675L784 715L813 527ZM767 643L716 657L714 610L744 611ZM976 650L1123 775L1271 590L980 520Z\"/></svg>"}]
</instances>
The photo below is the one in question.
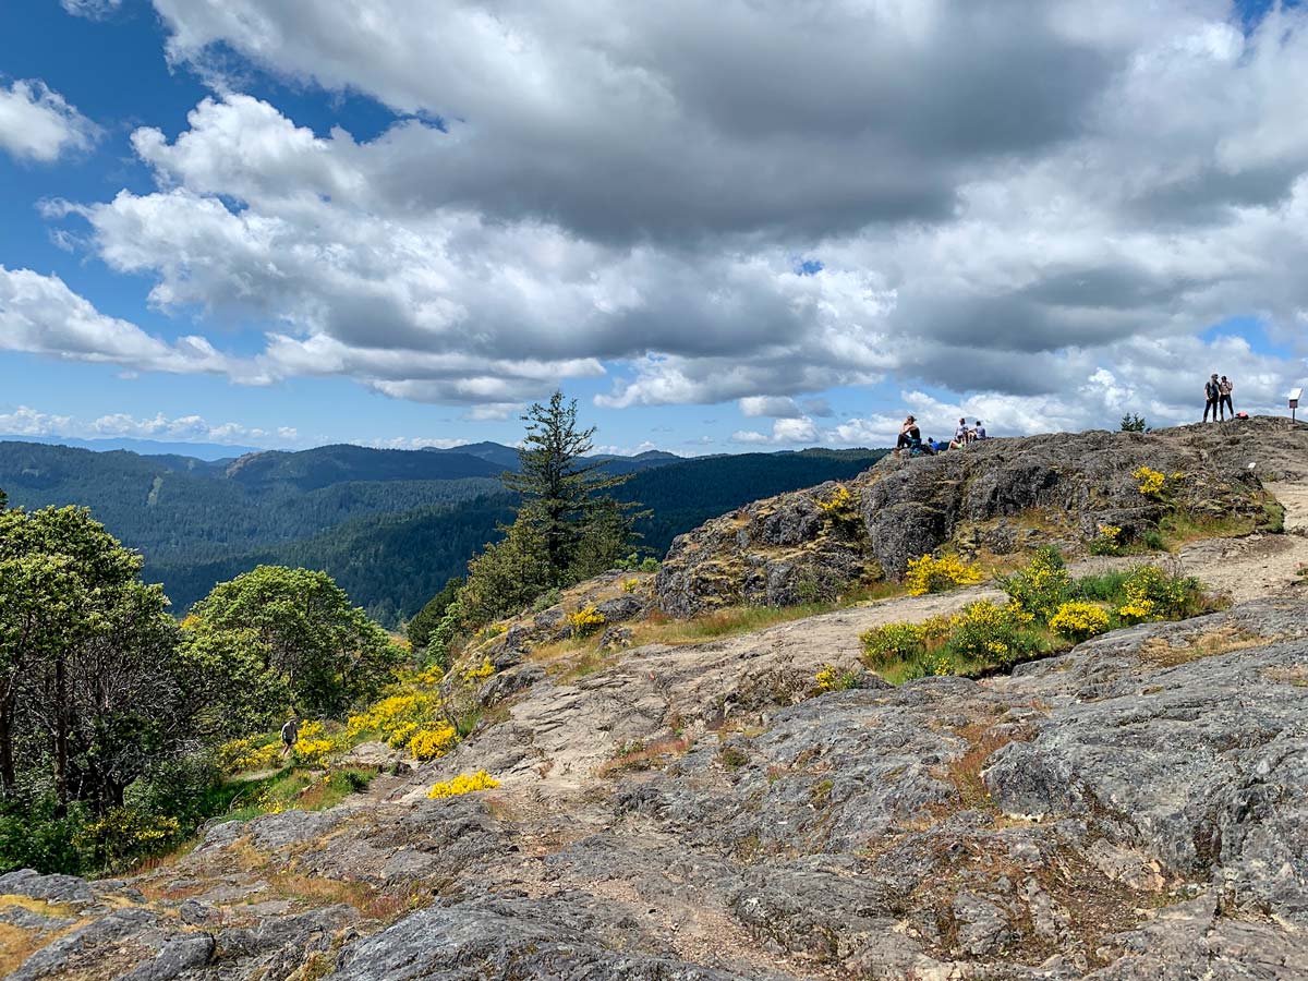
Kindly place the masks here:
<instances>
[{"instance_id":1,"label":"white wedge-shaped cloud at left edge, lower of the two there","mask_svg":"<svg viewBox=\"0 0 1308 981\"><path fill-rule=\"evenodd\" d=\"M0 351L152 371L243 373L201 336L165 341L106 317L58 276L0 266Z\"/></svg>"}]
</instances>

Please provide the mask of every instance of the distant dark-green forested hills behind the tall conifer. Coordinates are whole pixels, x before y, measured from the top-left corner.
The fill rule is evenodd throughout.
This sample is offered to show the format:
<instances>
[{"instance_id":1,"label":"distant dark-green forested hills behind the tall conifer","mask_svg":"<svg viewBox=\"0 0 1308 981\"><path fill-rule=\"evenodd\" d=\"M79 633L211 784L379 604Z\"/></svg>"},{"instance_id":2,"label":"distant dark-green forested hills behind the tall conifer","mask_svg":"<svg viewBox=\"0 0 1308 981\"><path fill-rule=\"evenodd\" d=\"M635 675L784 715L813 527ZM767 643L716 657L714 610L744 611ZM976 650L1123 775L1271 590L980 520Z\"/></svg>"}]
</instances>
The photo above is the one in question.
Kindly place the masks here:
<instances>
[{"instance_id":1,"label":"distant dark-green forested hills behind the tall conifer","mask_svg":"<svg viewBox=\"0 0 1308 981\"><path fill-rule=\"evenodd\" d=\"M463 447L460 447L463 449ZM324 446L224 463L0 442L12 505L77 504L145 557L174 612L259 564L324 569L387 625L412 616L498 536L514 498L497 475L511 453ZM615 497L651 514L637 528L662 556L672 538L760 496L844 480L880 455L806 450L680 459L607 458L633 472Z\"/></svg>"}]
</instances>

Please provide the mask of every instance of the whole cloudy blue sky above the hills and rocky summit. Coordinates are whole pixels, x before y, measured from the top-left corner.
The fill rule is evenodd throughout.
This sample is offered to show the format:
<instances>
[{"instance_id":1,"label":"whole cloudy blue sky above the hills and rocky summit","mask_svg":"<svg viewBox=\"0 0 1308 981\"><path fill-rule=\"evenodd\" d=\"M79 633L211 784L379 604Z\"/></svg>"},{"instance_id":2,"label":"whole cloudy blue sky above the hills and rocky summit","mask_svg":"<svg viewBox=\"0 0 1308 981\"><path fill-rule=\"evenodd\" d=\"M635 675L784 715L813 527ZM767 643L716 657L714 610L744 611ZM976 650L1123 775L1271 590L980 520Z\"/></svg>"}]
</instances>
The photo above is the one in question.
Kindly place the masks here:
<instances>
[{"instance_id":1,"label":"whole cloudy blue sky above the hills and rocky summit","mask_svg":"<svg viewBox=\"0 0 1308 981\"><path fill-rule=\"evenodd\" d=\"M0 433L883 446L1283 412L1308 10L5 0Z\"/></svg>"}]
</instances>

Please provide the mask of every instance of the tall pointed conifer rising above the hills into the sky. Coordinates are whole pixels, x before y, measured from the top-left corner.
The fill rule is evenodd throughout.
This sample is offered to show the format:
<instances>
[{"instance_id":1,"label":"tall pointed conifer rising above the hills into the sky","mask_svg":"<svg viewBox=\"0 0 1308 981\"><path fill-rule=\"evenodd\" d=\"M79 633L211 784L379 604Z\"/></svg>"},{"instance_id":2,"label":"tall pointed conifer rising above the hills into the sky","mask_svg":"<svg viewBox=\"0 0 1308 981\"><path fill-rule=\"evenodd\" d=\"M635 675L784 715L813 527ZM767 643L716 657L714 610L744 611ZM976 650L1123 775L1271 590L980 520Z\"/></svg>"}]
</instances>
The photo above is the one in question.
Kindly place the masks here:
<instances>
[{"instance_id":1,"label":"tall pointed conifer rising above the hills into the sky","mask_svg":"<svg viewBox=\"0 0 1308 981\"><path fill-rule=\"evenodd\" d=\"M607 538L621 538L621 553L632 536L634 504L617 504L604 490L625 484L629 473L603 472L603 462L583 463L594 447L595 428L577 429L577 400L564 404L556 391L549 404L534 404L522 417L527 436L518 450L518 473L501 480L522 494L515 525L534 528L542 538L549 586L576 582L578 549L603 526ZM593 543L594 544L594 543Z\"/></svg>"}]
</instances>

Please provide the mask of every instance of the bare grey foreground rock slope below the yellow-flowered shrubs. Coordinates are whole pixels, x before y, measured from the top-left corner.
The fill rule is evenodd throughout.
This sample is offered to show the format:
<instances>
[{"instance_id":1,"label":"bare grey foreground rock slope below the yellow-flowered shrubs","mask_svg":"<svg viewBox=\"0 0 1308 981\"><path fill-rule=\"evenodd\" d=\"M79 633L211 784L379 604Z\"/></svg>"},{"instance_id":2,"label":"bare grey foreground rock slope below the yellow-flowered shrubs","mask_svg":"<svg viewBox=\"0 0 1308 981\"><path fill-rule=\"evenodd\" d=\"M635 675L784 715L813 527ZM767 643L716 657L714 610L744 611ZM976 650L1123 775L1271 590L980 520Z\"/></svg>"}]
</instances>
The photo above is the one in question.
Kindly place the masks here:
<instances>
[{"instance_id":1,"label":"bare grey foreground rock slope below the yellow-flowered shrubs","mask_svg":"<svg viewBox=\"0 0 1308 981\"><path fill-rule=\"evenodd\" d=\"M63 904L14 977L1308 976L1308 598L696 725L654 663L616 768L560 782L542 681L366 806L218 825L128 882L0 879ZM602 717L624 695L595 681ZM500 790L422 795L479 765Z\"/></svg>"}]
</instances>

